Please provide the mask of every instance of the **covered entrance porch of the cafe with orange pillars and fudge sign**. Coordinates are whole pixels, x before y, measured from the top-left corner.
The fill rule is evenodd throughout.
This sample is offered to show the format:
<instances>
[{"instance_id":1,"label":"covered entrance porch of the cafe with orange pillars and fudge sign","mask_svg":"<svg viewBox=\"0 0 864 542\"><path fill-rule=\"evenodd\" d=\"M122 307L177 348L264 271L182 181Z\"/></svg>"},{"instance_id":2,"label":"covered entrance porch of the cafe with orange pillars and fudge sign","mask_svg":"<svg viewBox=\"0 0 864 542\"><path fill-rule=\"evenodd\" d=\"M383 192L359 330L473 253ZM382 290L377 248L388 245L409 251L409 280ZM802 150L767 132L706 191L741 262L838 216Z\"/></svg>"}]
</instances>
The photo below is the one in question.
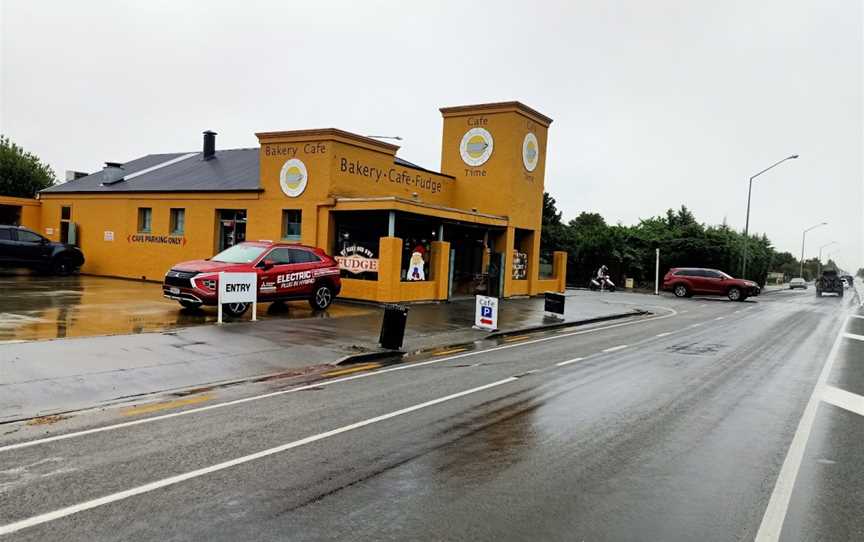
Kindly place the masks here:
<instances>
[{"instance_id":1,"label":"covered entrance porch of the cafe with orange pillars and fudge sign","mask_svg":"<svg viewBox=\"0 0 864 542\"><path fill-rule=\"evenodd\" d=\"M477 294L508 297L514 295L511 285L528 294L540 286L524 275L521 282L513 280L511 268L527 237L517 235L506 217L396 197L336 198L328 207L319 221L326 241L319 243L342 264L342 297L446 301ZM527 258L532 250L524 252ZM536 274L534 266L530 269ZM546 282L559 289L557 281Z\"/></svg>"}]
</instances>

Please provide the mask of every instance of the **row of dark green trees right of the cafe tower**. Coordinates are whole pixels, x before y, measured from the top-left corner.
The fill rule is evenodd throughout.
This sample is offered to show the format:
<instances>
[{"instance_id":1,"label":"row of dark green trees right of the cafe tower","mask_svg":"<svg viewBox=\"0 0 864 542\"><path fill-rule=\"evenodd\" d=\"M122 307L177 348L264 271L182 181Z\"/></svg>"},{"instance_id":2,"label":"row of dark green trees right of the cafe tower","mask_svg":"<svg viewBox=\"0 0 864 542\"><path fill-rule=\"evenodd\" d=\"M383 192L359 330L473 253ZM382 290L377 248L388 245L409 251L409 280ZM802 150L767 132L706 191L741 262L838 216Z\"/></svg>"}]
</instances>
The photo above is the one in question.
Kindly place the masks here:
<instances>
[{"instance_id":1,"label":"row of dark green trees right of the cafe tower","mask_svg":"<svg viewBox=\"0 0 864 542\"><path fill-rule=\"evenodd\" d=\"M637 287L653 288L658 248L661 278L670 267L710 267L738 276L743 246L741 232L726 224L699 222L683 205L633 226L607 224L601 215L589 212L565 223L555 198L543 195L541 251L567 251L567 283L571 285L584 286L605 264L616 283L623 286L625 278L632 278ZM751 235L748 252L744 278L765 284L769 272L783 273L786 280L799 276L798 259L774 250L765 235ZM815 278L818 266L816 258L805 261L804 278Z\"/></svg>"}]
</instances>

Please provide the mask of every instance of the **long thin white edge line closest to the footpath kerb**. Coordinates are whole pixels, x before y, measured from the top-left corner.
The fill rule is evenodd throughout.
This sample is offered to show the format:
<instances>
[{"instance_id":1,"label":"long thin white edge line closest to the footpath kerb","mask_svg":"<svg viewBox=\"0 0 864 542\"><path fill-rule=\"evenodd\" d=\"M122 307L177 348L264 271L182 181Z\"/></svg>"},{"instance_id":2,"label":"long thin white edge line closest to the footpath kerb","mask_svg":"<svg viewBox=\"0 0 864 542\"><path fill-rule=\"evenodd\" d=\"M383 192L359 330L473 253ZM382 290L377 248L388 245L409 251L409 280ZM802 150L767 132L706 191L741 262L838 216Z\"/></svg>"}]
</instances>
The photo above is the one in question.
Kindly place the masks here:
<instances>
[{"instance_id":1,"label":"long thin white edge line closest to the footpath kerb","mask_svg":"<svg viewBox=\"0 0 864 542\"><path fill-rule=\"evenodd\" d=\"M672 309L669 307L664 307L663 309L671 311L671 312L669 314L664 314L663 316L645 318L644 320L635 320L632 322L623 322L620 324L612 324L612 325L603 326L603 327L583 329L581 331L574 331L572 333L567 333L567 334L562 333L561 335L554 335L551 337L541 337L539 339L533 339L530 341L522 341L522 342L513 343L513 344L495 346L492 348L487 348L486 350L475 350L475 351L471 351L471 352L465 352L464 354L456 354L454 356L448 356L448 357L444 357L444 358L436 358L436 359L432 359L429 361L422 361L422 362L417 362L417 363L407 363L405 365L399 365L396 367L389 367L386 369L379 369L377 371L370 371L367 373L359 373L356 375L346 376L346 377L342 377L342 378L334 378L333 380L326 380L324 382L314 382L314 383L308 384L306 386L300 386L299 388L291 388L291 389L287 389L287 390L274 391L274 392L270 392L270 393L264 393L261 395L255 395L252 397L244 397L243 399L234 399L232 401L226 401L224 403L216 403L213 405L207 405L207 406L198 407L198 408L190 408L188 410L182 410L180 412L172 412L170 414L162 414L159 416L152 416L150 418L142 418L140 420L133 420L133 421L129 421L129 422L117 423L114 425L106 425L103 427L96 427L93 429L84 429L82 431L75 431L72 433L64 433L62 435L54 435L52 437L45 437L45 438L36 439L36 440L19 442L17 444L9 444L6 446L0 446L0 452L7 452L7 451L11 451L11 450L18 450L21 448L28 448L30 446L37 446L40 444L47 444L49 442L56 442L58 440L66 440L66 439L81 437L81 436L85 436L85 435L92 435L95 433L102 433L104 431L113 431L115 429L122 429L125 427L132 427L135 425L141 425L141 424L145 424L145 423L152 423L152 422L157 422L157 421L161 421L161 420L167 420L169 418L177 418L180 416L187 416L190 414L198 414L199 412L206 412L208 410L215 410L217 408L224 408L224 407L228 407L228 406L234 406L234 405L239 405L239 404L243 404L243 403L249 403L251 401L258 401L261 399L278 397L280 395L286 395L289 393L296 393L298 391L322 388L324 386L331 386L333 384L341 384L343 382L349 382L351 380L357 380L360 378L369 378L372 376L390 373L393 371L403 371L406 369L413 369L415 367L423 367L426 365L431 365L433 363L441 363L442 361L450 361L450 360L460 359L460 358L464 358L464 357L468 357L468 356L476 356L479 354L488 354L490 352L495 352L498 350L507 350L509 348L520 348L520 347L523 347L523 346L526 346L529 344L536 344L536 343L551 341L551 340L555 340L555 339L563 339L566 337L574 337L576 335L584 335L586 333L596 333L598 331L605 331L607 329L632 326L634 324L642 324L645 322L652 322L655 320L665 320L666 318L672 318L673 316L678 315L678 311L676 311L675 309Z\"/></svg>"}]
</instances>

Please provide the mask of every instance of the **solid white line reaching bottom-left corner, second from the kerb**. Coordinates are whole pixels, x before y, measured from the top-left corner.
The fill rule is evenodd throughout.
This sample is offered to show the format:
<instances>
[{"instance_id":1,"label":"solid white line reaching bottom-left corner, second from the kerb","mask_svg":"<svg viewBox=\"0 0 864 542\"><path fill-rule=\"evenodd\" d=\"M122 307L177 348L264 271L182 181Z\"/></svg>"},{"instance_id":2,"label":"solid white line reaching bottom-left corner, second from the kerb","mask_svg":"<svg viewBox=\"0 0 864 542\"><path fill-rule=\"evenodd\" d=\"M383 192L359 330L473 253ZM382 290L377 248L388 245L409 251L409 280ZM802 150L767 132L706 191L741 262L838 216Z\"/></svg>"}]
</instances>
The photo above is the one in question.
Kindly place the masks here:
<instances>
[{"instance_id":1,"label":"solid white line reaching bottom-left corner, second from the kerb","mask_svg":"<svg viewBox=\"0 0 864 542\"><path fill-rule=\"evenodd\" d=\"M250 461L255 461L257 459L262 459L264 457L278 454L280 452L285 452L287 450L291 450L292 448L299 448L300 446L304 446L306 444L311 444L313 442L317 442L319 440L324 440L326 438L339 435L341 433L346 433L348 431L353 431L354 429L359 429L361 427L365 427L367 425L372 425L374 423L383 422L385 420L389 420L391 418L395 418L397 416L402 416L405 414L409 414L411 412L415 412L417 410L428 408L430 406L441 404L445 401L451 401L453 399L458 399L460 397L465 397L466 395L471 395L473 393L485 391L497 386L501 386L503 384L509 384L510 382L515 382L518 380L516 377L509 377L503 380L498 380L496 382L492 382L490 384L485 384L483 386L478 386L476 388L471 388L470 390L461 391L459 393L454 393L452 395L447 395L446 397L439 397L438 399L433 399L431 401L426 401L425 403L420 403L417 405L413 405L407 408L403 408L400 410L394 410L393 412L389 412L387 414L382 414L381 416L376 416L374 418L367 418L365 420L355 422L349 425L344 425L337 429L333 429L330 431L325 431L324 433L318 433L317 435L312 435L300 440L295 440L293 442L289 442L287 444L282 444L281 446L276 446L275 448L269 448L267 450L262 450L260 452L256 452L254 454L245 455L242 457L238 457L235 459L231 459L229 461L225 461L222 463L217 463L216 465L211 465L209 467L204 467L201 469L196 469L193 471L189 471L183 474L178 474L176 476L171 476L169 478L163 478L162 480L157 480L155 482L150 482L149 484L144 484L142 486L134 487L132 489L127 489L125 491L120 491L117 493L112 493L110 495L105 495L103 497L99 497L98 499L93 499L90 501L85 501L82 503L78 503L72 506L67 506L65 508L60 508L58 510L54 510L53 512L47 512L45 514L39 514L38 516L29 517L26 519L22 519L20 521L16 521L13 523L9 523L8 525L0 525L0 535L11 534L23 529L27 529L29 527L35 527L36 525L40 525L42 523L47 523L49 521L54 521L56 519L64 518L67 516L71 516L73 514L77 514L78 512L83 512L85 510L90 510L92 508L97 508L99 506L104 506L106 504L111 504L117 501L121 501L124 499L128 499L129 497L134 497L136 495L141 495L143 493L148 493L150 491L154 491L156 489L160 489L163 487L172 486L175 484L179 484L180 482L185 482L186 480L191 480L193 478L198 478L200 476L204 476L205 474L210 474L213 472L225 470L231 467L235 467L237 465L242 465L243 463L248 463Z\"/></svg>"}]
</instances>

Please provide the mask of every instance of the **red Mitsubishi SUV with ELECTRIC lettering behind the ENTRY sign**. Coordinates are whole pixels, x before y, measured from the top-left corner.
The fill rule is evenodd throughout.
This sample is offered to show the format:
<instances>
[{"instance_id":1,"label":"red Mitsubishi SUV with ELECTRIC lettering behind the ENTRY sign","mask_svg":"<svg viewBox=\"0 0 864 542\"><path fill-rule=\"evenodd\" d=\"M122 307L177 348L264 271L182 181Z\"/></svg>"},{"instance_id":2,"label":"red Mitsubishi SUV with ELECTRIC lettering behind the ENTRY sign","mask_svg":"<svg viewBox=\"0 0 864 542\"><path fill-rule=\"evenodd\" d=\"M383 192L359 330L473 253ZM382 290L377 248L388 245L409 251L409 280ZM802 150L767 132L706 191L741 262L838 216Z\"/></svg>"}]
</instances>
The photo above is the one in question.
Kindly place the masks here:
<instances>
[{"instance_id":1,"label":"red Mitsubishi SUV with ELECTRIC lettering behind the ENTRY sign","mask_svg":"<svg viewBox=\"0 0 864 542\"><path fill-rule=\"evenodd\" d=\"M339 264L323 250L271 241L234 245L207 260L181 262L165 274L162 292L185 308L217 304L219 272L258 273L258 301L307 299L323 310L339 295ZM223 310L240 316L248 303L226 303Z\"/></svg>"}]
</instances>

